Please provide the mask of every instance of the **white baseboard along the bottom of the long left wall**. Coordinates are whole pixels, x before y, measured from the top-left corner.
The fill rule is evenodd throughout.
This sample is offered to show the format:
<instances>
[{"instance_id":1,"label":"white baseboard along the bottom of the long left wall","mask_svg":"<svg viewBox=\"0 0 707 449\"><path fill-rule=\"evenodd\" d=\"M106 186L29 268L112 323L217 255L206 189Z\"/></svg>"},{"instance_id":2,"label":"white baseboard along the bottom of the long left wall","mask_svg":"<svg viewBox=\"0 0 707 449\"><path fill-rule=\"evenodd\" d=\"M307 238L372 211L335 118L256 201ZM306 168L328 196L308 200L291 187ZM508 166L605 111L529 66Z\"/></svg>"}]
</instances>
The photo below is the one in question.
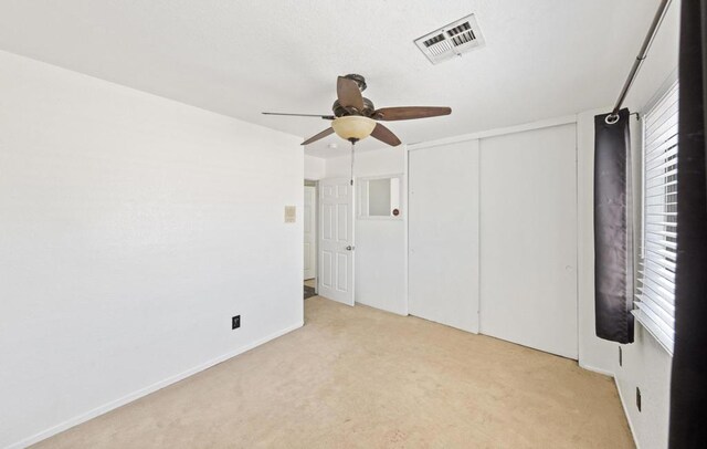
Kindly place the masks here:
<instances>
[{"instance_id":1,"label":"white baseboard along the bottom of the long left wall","mask_svg":"<svg viewBox=\"0 0 707 449\"><path fill-rule=\"evenodd\" d=\"M126 396L123 396L122 398L113 400L113 401L110 401L108 404L105 404L103 406L96 407L93 410L89 410L89 411L87 411L85 414L78 415L78 416L76 416L74 418L71 418L71 419L67 419L64 422L61 422L61 424L59 424L59 425L56 425L54 427L50 427L46 430L42 430L39 434L35 434L35 435L33 435L31 437L24 438L24 439L22 439L22 440L20 440L18 442L14 442L14 443L8 446L7 449L22 449L22 448L25 448L28 446L34 445L36 442L40 442L40 441L42 441L42 440L44 440L44 439L46 439L49 437L52 437L52 436L54 436L54 435L56 435L59 432L62 432L62 431L64 431L66 429L70 429L72 427L74 427L74 426L77 426L77 425L80 425L82 422L85 422L85 421L87 421L89 419L93 419L93 418L95 418L97 416L106 414L106 413L108 413L110 410L114 410L114 409L120 407L120 406L124 406L124 405L126 405L128 403L131 403L131 401L134 401L136 399L139 399L139 398L141 398L144 396L147 396L150 393L155 393L158 389L165 388L165 387L167 387L167 386L169 386L171 384L175 384L175 383L177 383L179 380L186 379L189 376L193 376L194 374L197 374L199 372L208 369L208 368L212 367L213 365L218 365L221 362L225 362L229 358L235 357L236 355L242 354L242 353L244 353L246 351L250 351L250 349L252 349L252 348L254 348L256 346L260 346L260 345L262 345L264 343L267 343L271 340L274 340L274 338L277 338L279 336L283 336L283 335L285 335L285 334L287 334L287 333L289 333L292 331L295 331L295 330L302 327L303 325L304 325L304 322L300 322L300 323L294 324L292 326L285 327L284 330L275 332L274 334L267 335L267 336L265 336L265 337L263 337L261 340L256 340L255 342L252 342L252 343L249 343L249 344L246 344L244 346L241 346L235 351L232 351L232 352L223 354L223 355L221 355L219 357L212 358L211 361L209 361L207 363L203 363L201 365L194 366L193 368L187 369L186 372L179 373L179 374L177 374L175 376L167 377L166 379L157 382L157 383L155 383L152 385L149 385L149 386L147 386L145 388L140 388L137 391L130 393L130 394L128 394Z\"/></svg>"}]
</instances>

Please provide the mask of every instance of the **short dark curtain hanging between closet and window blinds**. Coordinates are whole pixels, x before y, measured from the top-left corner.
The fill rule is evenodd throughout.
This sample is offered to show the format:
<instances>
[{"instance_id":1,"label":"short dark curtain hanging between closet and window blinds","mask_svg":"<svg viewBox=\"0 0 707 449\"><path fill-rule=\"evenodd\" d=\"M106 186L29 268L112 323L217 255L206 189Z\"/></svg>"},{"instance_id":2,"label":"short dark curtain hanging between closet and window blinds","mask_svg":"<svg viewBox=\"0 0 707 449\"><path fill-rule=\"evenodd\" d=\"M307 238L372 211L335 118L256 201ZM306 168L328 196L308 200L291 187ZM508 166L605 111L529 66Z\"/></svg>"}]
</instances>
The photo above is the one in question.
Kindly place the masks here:
<instances>
[{"instance_id":1,"label":"short dark curtain hanging between closet and window blinds","mask_svg":"<svg viewBox=\"0 0 707 449\"><path fill-rule=\"evenodd\" d=\"M594 313L597 336L633 343L633 234L629 109L594 117Z\"/></svg>"}]
</instances>

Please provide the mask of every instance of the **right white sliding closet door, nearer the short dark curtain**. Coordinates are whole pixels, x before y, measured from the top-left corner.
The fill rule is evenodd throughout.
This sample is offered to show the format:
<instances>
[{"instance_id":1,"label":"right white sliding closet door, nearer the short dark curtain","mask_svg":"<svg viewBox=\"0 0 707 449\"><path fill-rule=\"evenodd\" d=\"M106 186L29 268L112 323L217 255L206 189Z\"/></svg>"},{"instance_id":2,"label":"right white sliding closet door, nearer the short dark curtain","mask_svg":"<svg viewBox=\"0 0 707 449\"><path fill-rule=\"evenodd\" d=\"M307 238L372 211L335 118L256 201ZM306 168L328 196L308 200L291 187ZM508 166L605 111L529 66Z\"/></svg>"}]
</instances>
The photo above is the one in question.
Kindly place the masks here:
<instances>
[{"instance_id":1,"label":"right white sliding closet door, nearer the short dark curtain","mask_svg":"<svg viewBox=\"0 0 707 449\"><path fill-rule=\"evenodd\" d=\"M577 358L576 125L481 140L481 332Z\"/></svg>"}]
</instances>

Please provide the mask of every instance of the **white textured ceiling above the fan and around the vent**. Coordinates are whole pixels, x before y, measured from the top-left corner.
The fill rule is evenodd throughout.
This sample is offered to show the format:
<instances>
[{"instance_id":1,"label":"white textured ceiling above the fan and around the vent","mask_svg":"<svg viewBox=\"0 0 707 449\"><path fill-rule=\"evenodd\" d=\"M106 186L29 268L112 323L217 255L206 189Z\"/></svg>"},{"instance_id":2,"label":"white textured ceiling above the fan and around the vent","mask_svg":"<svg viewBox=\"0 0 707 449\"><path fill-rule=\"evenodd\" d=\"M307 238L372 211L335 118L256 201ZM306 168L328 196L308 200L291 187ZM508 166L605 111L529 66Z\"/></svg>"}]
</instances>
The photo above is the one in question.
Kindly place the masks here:
<instances>
[{"instance_id":1,"label":"white textured ceiling above the fan and around the vent","mask_svg":"<svg viewBox=\"0 0 707 449\"><path fill-rule=\"evenodd\" d=\"M4 0L0 49L303 137L328 123L261 112L328 114L336 76L360 73L378 107L452 107L389 124L414 143L613 103L657 3ZM413 40L472 12L486 46L430 64Z\"/></svg>"}]
</instances>

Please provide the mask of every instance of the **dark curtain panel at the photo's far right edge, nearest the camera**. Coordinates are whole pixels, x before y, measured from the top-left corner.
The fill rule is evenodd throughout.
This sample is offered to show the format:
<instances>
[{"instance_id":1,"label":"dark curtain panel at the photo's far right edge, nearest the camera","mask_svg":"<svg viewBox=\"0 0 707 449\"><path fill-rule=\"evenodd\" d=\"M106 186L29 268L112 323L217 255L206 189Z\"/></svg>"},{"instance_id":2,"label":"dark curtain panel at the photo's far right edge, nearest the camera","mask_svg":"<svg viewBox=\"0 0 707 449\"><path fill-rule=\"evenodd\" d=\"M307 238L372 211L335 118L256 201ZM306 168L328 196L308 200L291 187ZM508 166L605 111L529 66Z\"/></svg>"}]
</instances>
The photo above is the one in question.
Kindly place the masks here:
<instances>
[{"instance_id":1,"label":"dark curtain panel at the photo's far right edge, nearest the camera","mask_svg":"<svg viewBox=\"0 0 707 449\"><path fill-rule=\"evenodd\" d=\"M669 447L707 447L707 0L683 0Z\"/></svg>"}]
</instances>

